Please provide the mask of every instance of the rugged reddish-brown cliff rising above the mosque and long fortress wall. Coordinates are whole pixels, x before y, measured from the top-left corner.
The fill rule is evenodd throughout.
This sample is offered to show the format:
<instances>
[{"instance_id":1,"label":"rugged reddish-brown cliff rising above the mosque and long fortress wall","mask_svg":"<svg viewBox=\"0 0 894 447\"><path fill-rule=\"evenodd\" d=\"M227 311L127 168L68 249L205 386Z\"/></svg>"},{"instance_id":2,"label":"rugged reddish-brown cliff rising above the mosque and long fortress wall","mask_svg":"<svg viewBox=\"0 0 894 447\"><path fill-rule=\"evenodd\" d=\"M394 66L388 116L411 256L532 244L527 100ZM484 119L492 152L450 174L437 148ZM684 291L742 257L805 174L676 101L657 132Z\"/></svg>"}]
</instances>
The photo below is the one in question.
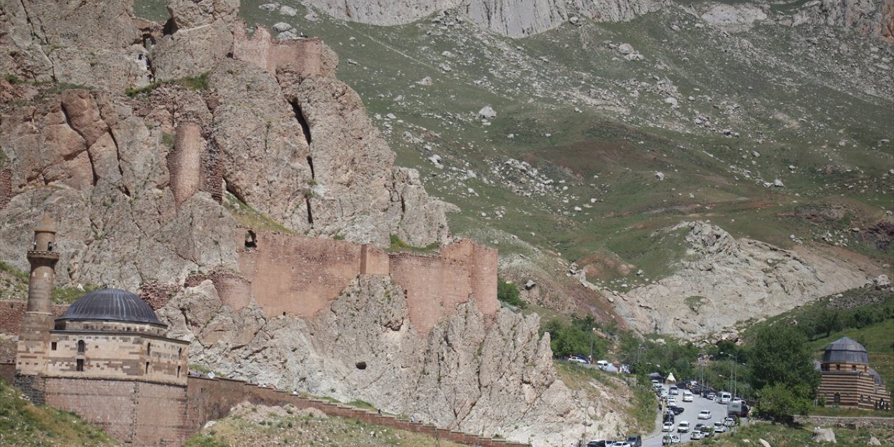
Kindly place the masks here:
<instances>
[{"instance_id":1,"label":"rugged reddish-brown cliff rising above the mosque and long fortress wall","mask_svg":"<svg viewBox=\"0 0 894 447\"><path fill-rule=\"evenodd\" d=\"M447 237L443 203L394 166L358 95L333 78L331 50L307 55L316 72L281 61L279 78L227 57L238 6L173 2L162 31L128 2L4 5L0 257L26 269L30 225L48 210L63 285L135 289L231 268L224 191L293 232L379 246Z\"/></svg>"}]
</instances>

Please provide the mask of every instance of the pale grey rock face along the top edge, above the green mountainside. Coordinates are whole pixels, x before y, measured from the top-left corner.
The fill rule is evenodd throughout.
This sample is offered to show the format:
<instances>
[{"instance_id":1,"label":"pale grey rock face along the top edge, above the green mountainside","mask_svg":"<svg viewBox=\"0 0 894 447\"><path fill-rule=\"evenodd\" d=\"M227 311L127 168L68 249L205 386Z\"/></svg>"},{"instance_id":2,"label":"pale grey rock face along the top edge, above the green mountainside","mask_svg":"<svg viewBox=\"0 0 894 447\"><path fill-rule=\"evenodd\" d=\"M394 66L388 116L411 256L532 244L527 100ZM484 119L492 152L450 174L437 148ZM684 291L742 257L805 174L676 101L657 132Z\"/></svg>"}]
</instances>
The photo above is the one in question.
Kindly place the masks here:
<instances>
[{"instance_id":1,"label":"pale grey rock face along the top edge, above the green mountainside","mask_svg":"<svg viewBox=\"0 0 894 447\"><path fill-rule=\"evenodd\" d=\"M347 21L397 25L458 8L482 27L506 36L530 36L552 30L578 14L595 21L628 21L662 6L660 0L312 0L309 4Z\"/></svg>"}]
</instances>

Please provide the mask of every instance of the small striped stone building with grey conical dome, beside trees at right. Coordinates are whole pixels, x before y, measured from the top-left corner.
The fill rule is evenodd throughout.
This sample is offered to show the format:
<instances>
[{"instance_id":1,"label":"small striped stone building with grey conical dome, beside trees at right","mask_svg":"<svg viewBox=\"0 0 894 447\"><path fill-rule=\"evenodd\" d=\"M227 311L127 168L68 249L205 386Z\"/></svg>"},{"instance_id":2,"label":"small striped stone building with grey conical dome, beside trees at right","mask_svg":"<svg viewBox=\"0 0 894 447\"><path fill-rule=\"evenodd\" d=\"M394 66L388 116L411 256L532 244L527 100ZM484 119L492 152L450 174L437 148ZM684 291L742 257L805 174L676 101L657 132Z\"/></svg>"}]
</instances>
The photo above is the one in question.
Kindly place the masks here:
<instances>
[{"instance_id":1,"label":"small striped stone building with grey conical dome, beside trees at right","mask_svg":"<svg viewBox=\"0 0 894 447\"><path fill-rule=\"evenodd\" d=\"M869 367L862 344L842 337L826 346L820 363L822 382L817 396L827 405L855 409L890 409L891 395L881 376Z\"/></svg>"}]
</instances>

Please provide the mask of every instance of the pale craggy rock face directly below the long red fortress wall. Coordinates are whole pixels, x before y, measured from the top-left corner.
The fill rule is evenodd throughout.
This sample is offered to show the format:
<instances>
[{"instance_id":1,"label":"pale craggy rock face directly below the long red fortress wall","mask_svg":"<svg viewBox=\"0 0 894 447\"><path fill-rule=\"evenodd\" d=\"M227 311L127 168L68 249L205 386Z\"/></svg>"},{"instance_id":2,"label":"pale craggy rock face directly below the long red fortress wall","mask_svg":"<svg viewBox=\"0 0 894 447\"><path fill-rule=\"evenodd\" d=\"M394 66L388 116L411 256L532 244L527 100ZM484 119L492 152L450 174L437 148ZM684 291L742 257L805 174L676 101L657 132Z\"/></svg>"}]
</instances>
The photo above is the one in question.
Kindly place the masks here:
<instances>
[{"instance_id":1,"label":"pale craggy rock face directly below the long red fortress wall","mask_svg":"<svg viewBox=\"0 0 894 447\"><path fill-rule=\"evenodd\" d=\"M600 415L603 435L625 429L617 413L558 380L536 316L502 310L489 321L470 301L423 337L409 325L403 291L383 276L359 276L314 319L266 319L254 302L233 311L211 281L157 313L172 336L192 342L190 361L235 378L534 445L579 436L587 406Z\"/></svg>"}]
</instances>

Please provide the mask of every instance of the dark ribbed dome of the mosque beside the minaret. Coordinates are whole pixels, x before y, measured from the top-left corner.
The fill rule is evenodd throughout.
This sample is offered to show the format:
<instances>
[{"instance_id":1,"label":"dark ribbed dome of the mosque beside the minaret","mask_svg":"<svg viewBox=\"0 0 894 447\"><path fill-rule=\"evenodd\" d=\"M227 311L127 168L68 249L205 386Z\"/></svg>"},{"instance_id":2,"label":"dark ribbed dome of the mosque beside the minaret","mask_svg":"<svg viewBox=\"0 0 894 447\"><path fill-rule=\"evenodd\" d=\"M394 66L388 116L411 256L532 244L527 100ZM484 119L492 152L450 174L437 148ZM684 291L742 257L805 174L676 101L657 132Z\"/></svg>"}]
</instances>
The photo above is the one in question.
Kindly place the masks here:
<instances>
[{"instance_id":1,"label":"dark ribbed dome of the mosque beside the minaret","mask_svg":"<svg viewBox=\"0 0 894 447\"><path fill-rule=\"evenodd\" d=\"M121 289L101 289L80 297L59 320L112 320L162 325L146 301Z\"/></svg>"}]
</instances>

